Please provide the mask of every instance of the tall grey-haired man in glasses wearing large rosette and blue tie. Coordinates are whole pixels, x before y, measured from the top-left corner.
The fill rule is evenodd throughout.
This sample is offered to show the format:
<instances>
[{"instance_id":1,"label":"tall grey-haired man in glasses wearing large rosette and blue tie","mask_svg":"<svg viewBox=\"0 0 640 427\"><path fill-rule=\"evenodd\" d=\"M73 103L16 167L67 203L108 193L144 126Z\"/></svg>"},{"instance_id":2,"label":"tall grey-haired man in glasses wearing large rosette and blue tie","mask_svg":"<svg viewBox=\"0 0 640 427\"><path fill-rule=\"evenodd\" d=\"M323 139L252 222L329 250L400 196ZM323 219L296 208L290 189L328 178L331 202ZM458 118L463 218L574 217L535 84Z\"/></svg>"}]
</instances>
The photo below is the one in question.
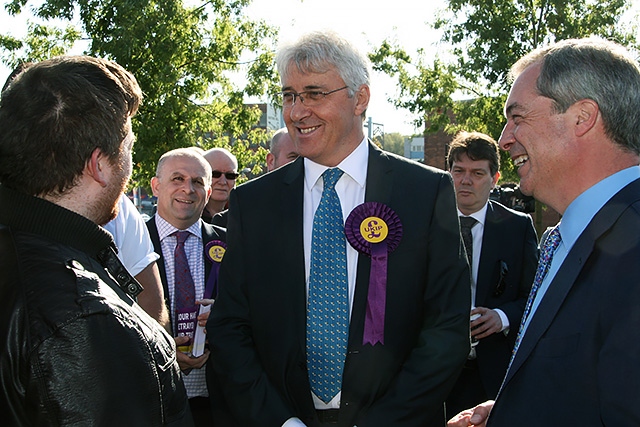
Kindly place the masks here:
<instances>
[{"instance_id":1,"label":"tall grey-haired man in glasses wearing large rosette and blue tie","mask_svg":"<svg viewBox=\"0 0 640 427\"><path fill-rule=\"evenodd\" d=\"M231 194L229 249L207 324L227 402L243 427L442 426L444 399L469 353L469 272L451 177L367 141L368 61L345 40L309 34L281 48L277 64L301 157ZM346 317L348 342L334 370L341 384L326 397L312 392L317 371L308 362L320 328L306 325L310 278L327 266L325 257L311 261L323 233L314 216L334 172L339 226L347 220L333 237L345 247L348 307L329 323L337 330ZM350 223L350 215L360 216ZM345 242L345 233L349 242L363 237L366 250L360 226L383 221L387 249L373 262Z\"/></svg>"}]
</instances>

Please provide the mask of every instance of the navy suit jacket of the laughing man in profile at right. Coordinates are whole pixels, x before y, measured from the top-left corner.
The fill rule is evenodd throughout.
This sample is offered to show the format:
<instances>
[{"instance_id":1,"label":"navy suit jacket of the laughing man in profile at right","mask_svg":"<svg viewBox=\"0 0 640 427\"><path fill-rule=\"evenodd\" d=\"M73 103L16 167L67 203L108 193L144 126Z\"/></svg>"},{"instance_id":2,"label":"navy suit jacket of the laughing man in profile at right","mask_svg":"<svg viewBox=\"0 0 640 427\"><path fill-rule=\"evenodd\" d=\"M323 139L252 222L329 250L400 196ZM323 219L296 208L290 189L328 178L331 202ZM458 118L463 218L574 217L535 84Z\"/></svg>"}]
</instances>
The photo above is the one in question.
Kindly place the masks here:
<instances>
[{"instance_id":1,"label":"navy suit jacket of the laughing man in profile at right","mask_svg":"<svg viewBox=\"0 0 640 427\"><path fill-rule=\"evenodd\" d=\"M489 419L640 425L640 180L602 207L554 277Z\"/></svg>"}]
</instances>

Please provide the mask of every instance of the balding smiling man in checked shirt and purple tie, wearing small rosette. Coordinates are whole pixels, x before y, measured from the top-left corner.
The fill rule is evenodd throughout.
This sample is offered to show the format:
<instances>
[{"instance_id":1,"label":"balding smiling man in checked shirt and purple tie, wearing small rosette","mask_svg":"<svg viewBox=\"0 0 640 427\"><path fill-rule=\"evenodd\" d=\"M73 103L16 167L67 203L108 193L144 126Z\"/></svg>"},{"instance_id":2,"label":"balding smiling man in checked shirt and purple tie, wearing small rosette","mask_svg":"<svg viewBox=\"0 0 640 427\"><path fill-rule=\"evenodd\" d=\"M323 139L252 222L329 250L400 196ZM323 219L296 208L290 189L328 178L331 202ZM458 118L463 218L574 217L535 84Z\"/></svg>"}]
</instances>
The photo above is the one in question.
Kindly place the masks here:
<instances>
[{"instance_id":1,"label":"balding smiling man in checked shirt and purple tie, wearing small rosette","mask_svg":"<svg viewBox=\"0 0 640 427\"><path fill-rule=\"evenodd\" d=\"M170 313L170 328L176 337L178 364L182 370L189 405L196 426L211 426L212 407L207 382L211 382L211 368L208 364L209 350L192 357L180 351L188 345L187 336L179 336L176 315L176 274L175 249L179 231L188 232L184 242L190 275L195 288L194 309L198 311L203 300L215 298L217 288L217 268L219 259L209 254L212 248L224 246L216 242L225 240L223 228L200 220L202 210L211 194L212 169L197 151L190 148L171 150L158 161L156 176L151 180L153 194L158 198L158 210L147 221L147 227L156 253L160 255L158 267L164 288L167 309ZM212 243L210 243L212 242ZM214 277L212 277L212 275ZM198 314L198 323L204 326L209 312ZM191 342L192 343L192 342Z\"/></svg>"}]
</instances>

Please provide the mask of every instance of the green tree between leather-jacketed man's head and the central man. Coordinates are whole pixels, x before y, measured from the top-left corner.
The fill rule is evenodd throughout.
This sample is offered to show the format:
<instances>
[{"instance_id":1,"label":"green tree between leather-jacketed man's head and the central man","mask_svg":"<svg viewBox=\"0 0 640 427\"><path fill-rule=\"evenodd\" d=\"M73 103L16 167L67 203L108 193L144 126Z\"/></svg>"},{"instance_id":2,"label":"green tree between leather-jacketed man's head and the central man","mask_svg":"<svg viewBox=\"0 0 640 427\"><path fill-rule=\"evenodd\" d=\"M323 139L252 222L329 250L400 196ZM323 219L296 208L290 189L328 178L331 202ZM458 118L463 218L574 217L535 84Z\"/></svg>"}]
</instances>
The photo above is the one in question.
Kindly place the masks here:
<instances>
[{"instance_id":1,"label":"green tree between leather-jacketed man's head and the central man","mask_svg":"<svg viewBox=\"0 0 640 427\"><path fill-rule=\"evenodd\" d=\"M145 95L133 121L134 174L142 182L160 155L187 146L227 147L240 169L258 170L268 135L254 129L260 111L244 99L277 91L276 30L243 16L249 1L44 0L33 14L46 25L30 25L24 40L1 36L2 61L13 67L59 55L82 38L88 55L131 71ZM6 9L18 14L27 5L12 0Z\"/></svg>"}]
</instances>

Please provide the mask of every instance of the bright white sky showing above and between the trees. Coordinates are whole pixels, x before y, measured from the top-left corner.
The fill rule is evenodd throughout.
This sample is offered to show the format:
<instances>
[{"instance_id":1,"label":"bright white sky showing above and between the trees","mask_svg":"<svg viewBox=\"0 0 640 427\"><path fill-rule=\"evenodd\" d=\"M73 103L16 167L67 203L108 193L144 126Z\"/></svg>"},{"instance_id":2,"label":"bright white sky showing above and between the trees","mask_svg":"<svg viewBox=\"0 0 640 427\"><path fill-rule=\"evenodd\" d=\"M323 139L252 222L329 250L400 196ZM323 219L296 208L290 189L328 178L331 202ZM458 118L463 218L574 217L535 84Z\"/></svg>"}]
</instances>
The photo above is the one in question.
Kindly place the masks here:
<instances>
[{"instance_id":1,"label":"bright white sky showing above and between the trees","mask_svg":"<svg viewBox=\"0 0 640 427\"><path fill-rule=\"evenodd\" d=\"M0 0L2 4L6 2ZM632 3L637 11L640 0L632 0ZM418 48L425 48L436 55L442 53L438 52L439 35L429 24L444 4L444 1L424 0L253 0L244 12L249 18L264 19L278 27L281 41L295 39L312 30L330 29L365 53L389 39L410 54ZM0 29L2 33L14 36L24 35L25 17L9 17L2 8ZM8 74L9 70L0 65L0 82L4 82ZM397 83L392 78L373 72L367 115L376 125L374 128L382 127L386 133L399 132L406 136L420 133L412 124L415 117L407 110L393 107L388 101L397 94Z\"/></svg>"}]
</instances>

